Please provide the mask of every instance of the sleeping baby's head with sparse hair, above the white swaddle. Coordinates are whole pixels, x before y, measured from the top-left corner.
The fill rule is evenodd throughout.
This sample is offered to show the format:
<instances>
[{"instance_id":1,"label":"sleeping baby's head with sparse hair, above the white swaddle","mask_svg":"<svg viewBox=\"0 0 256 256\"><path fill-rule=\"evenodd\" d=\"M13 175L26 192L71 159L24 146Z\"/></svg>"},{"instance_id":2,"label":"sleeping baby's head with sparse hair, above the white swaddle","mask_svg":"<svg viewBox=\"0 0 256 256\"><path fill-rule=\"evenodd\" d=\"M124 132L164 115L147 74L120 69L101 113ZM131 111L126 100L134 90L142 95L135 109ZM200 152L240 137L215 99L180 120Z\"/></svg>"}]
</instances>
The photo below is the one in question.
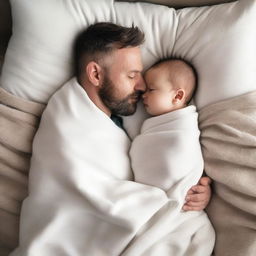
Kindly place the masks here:
<instances>
[{"instance_id":1,"label":"sleeping baby's head with sparse hair, above the white swaddle","mask_svg":"<svg viewBox=\"0 0 256 256\"><path fill-rule=\"evenodd\" d=\"M168 59L148 69L145 82L144 104L155 116L187 106L197 87L197 74L187 61Z\"/></svg>"}]
</instances>

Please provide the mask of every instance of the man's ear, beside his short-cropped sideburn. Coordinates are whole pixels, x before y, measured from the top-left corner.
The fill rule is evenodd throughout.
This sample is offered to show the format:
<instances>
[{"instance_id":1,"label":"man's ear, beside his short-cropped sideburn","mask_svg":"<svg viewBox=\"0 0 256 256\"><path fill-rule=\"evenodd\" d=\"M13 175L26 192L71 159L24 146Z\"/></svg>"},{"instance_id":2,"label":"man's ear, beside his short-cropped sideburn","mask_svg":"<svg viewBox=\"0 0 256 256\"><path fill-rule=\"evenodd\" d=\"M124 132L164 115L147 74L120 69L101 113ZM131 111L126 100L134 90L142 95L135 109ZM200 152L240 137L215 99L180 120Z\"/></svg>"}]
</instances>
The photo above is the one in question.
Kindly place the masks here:
<instances>
[{"instance_id":1,"label":"man's ear, beside his short-cropped sideburn","mask_svg":"<svg viewBox=\"0 0 256 256\"><path fill-rule=\"evenodd\" d=\"M100 86L103 78L103 69L102 67L95 61L90 61L86 66L86 74L88 80L94 86Z\"/></svg>"}]
</instances>

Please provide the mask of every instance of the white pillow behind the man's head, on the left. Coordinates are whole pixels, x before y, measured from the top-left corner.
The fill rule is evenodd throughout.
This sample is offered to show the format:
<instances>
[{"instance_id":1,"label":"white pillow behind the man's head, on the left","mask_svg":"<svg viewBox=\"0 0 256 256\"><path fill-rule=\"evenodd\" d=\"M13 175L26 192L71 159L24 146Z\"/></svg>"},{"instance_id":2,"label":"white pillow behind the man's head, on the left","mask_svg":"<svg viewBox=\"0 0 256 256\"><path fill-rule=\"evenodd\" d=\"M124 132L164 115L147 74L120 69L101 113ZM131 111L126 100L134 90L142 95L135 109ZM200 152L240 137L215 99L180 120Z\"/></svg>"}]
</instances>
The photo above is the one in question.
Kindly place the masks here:
<instances>
[{"instance_id":1,"label":"white pillow behind the man's head, on the left","mask_svg":"<svg viewBox=\"0 0 256 256\"><path fill-rule=\"evenodd\" d=\"M111 0L11 0L13 35L1 85L46 103L72 76L72 44L89 24L114 17Z\"/></svg>"}]
</instances>

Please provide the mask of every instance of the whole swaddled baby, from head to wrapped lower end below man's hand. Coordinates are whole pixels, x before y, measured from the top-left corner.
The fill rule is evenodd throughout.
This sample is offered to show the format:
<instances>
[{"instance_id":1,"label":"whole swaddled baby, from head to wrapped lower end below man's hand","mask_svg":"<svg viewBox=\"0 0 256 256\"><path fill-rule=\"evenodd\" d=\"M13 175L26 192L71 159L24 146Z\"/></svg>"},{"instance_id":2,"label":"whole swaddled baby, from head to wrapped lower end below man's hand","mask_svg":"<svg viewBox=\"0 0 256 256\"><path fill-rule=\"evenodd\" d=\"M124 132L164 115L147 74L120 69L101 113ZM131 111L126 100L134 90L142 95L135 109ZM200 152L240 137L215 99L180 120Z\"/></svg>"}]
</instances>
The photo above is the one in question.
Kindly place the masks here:
<instances>
[{"instance_id":1,"label":"whole swaddled baby, from head to wrapped lower end below man's hand","mask_svg":"<svg viewBox=\"0 0 256 256\"><path fill-rule=\"evenodd\" d=\"M161 188L170 199L162 227L154 231L165 232L166 243L156 243L154 250L211 255L215 234L206 213L182 211L186 191L197 184L204 168L198 114L189 105L197 87L195 69L181 59L164 60L146 71L145 82L143 103L152 117L133 140L130 156L135 181ZM144 237L150 229L144 227Z\"/></svg>"}]
</instances>

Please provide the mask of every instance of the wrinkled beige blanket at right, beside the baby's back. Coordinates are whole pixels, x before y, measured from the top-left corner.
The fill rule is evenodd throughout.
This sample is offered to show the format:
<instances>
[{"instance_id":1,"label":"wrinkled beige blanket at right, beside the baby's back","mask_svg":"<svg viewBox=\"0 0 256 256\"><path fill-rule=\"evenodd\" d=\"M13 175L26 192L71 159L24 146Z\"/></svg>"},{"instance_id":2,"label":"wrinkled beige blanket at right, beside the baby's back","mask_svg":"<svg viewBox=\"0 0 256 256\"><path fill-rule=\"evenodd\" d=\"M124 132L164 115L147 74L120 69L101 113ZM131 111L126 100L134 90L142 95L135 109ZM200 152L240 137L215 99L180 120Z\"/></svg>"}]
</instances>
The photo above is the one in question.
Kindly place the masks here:
<instances>
[{"instance_id":1,"label":"wrinkled beige blanket at right, beside the baby's back","mask_svg":"<svg viewBox=\"0 0 256 256\"><path fill-rule=\"evenodd\" d=\"M215 255L256 255L256 92L203 108L199 122Z\"/></svg>"}]
</instances>

